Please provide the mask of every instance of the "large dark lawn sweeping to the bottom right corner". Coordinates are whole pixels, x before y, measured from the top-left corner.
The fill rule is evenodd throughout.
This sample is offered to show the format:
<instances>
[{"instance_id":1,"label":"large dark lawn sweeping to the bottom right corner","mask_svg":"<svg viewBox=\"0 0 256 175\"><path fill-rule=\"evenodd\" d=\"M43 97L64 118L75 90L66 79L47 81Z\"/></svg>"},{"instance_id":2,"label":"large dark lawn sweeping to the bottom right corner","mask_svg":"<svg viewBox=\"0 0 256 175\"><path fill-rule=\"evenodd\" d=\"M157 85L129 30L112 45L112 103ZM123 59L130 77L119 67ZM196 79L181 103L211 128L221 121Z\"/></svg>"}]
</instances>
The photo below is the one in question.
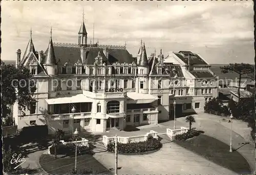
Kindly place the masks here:
<instances>
[{"instance_id":1,"label":"large dark lawn sweeping to the bottom right corner","mask_svg":"<svg viewBox=\"0 0 256 175\"><path fill-rule=\"evenodd\" d=\"M192 151L209 161L239 174L250 174L250 165L237 151L229 152L229 145L215 138L201 134L186 141L174 140L178 145Z\"/></svg>"}]
</instances>

